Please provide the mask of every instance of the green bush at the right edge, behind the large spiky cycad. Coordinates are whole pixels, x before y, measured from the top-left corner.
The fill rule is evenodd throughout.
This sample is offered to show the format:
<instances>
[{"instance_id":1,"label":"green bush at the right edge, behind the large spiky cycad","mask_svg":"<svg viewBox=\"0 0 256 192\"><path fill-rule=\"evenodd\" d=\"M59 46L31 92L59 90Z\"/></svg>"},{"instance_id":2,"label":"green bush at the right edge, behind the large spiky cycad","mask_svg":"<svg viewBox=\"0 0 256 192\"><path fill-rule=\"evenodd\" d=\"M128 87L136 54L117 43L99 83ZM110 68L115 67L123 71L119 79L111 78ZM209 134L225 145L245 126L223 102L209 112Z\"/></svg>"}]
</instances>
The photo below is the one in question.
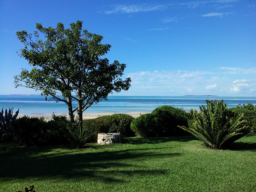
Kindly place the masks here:
<instances>
[{"instance_id":1,"label":"green bush at the right edge, behind the large spiky cycad","mask_svg":"<svg viewBox=\"0 0 256 192\"><path fill-rule=\"evenodd\" d=\"M243 108L243 106L241 106L241 108L236 107L236 108L230 108L228 110L235 112L237 115L243 114L244 120L246 120L246 125L252 128L252 133L256 133L256 113L253 110Z\"/></svg>"}]
</instances>

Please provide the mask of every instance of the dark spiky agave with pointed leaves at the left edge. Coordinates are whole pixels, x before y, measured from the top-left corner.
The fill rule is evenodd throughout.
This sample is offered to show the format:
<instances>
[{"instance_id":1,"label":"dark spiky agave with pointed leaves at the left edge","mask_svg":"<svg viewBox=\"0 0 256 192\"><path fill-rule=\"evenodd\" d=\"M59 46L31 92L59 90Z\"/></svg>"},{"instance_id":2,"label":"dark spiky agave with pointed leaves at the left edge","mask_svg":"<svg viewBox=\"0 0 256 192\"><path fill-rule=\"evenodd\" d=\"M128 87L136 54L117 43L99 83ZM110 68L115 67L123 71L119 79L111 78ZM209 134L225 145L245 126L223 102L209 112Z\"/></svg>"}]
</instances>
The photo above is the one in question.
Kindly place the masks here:
<instances>
[{"instance_id":1,"label":"dark spiky agave with pointed leaves at the left edge","mask_svg":"<svg viewBox=\"0 0 256 192\"><path fill-rule=\"evenodd\" d=\"M16 111L15 115L12 116L13 108L9 108L9 111L5 109L4 113L4 108L2 108L2 111L0 113L0 133L8 130L9 128L12 127L13 122L17 118L19 114L19 109Z\"/></svg>"}]
</instances>

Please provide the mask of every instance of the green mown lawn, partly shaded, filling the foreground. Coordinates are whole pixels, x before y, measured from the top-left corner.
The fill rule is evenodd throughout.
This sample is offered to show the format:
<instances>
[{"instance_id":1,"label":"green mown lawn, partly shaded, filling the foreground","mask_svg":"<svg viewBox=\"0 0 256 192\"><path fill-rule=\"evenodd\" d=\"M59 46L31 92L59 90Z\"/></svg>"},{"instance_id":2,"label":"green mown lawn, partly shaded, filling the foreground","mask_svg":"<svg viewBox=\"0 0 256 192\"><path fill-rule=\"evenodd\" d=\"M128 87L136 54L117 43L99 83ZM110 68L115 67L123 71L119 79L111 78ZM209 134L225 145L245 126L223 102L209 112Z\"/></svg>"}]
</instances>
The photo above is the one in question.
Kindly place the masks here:
<instances>
[{"instance_id":1,"label":"green mown lawn, partly shaded, filling the foreground","mask_svg":"<svg viewBox=\"0 0 256 192\"><path fill-rule=\"evenodd\" d=\"M256 135L228 150L193 136L128 138L86 148L0 144L0 191L256 191Z\"/></svg>"}]
</instances>

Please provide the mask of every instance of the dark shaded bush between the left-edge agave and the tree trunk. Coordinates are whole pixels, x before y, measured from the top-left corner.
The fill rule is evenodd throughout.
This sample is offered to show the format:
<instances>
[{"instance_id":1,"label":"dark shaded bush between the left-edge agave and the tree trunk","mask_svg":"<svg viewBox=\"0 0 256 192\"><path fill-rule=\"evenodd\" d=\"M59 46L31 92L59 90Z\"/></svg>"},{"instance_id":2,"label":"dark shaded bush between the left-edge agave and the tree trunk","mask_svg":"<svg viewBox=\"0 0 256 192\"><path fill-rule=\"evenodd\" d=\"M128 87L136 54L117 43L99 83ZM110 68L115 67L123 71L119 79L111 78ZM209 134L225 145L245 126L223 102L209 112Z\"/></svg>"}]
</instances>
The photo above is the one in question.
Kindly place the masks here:
<instances>
[{"instance_id":1,"label":"dark shaded bush between the left-edge agave and the tree trunk","mask_svg":"<svg viewBox=\"0 0 256 192\"><path fill-rule=\"evenodd\" d=\"M18 118L10 129L12 140L25 146L60 145L67 143L61 128L66 120L49 120L23 116Z\"/></svg>"}]
</instances>

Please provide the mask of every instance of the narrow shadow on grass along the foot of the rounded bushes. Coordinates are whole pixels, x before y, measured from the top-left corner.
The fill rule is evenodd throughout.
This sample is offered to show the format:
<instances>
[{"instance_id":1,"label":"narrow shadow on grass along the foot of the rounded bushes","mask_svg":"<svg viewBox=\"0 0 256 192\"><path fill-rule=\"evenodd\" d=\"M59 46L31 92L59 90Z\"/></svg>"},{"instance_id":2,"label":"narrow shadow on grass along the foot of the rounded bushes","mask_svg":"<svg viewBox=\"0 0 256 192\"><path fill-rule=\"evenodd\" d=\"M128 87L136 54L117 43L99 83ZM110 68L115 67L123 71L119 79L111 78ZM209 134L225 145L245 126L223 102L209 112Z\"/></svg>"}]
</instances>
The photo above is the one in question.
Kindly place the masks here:
<instances>
[{"instance_id":1,"label":"narrow shadow on grass along the foot of the rounded bushes","mask_svg":"<svg viewBox=\"0 0 256 192\"><path fill-rule=\"evenodd\" d=\"M171 141L178 141L178 142L188 142L190 140L198 140L193 135L184 135L184 136L172 136L172 137L132 137L126 138L125 143L129 144L157 144L157 143L166 143Z\"/></svg>"}]
</instances>

